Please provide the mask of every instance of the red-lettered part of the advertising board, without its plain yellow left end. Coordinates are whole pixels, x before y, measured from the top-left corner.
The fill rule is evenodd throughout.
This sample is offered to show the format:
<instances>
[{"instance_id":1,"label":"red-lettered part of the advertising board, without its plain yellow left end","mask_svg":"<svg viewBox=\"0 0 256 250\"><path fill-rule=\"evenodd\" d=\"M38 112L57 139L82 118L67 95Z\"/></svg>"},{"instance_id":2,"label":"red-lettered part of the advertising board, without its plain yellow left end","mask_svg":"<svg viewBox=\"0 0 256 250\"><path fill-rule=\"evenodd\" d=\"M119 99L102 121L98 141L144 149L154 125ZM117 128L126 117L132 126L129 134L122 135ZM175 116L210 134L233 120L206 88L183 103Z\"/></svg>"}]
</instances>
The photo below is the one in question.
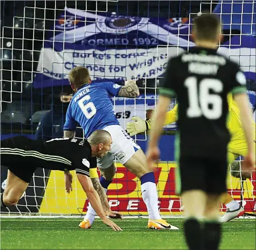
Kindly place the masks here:
<instances>
[{"instance_id":1,"label":"red-lettered part of the advertising board, without its plain yellow left end","mask_svg":"<svg viewBox=\"0 0 256 250\"><path fill-rule=\"evenodd\" d=\"M157 183L159 209L163 215L179 214L182 211L182 203L179 196L175 195L175 163L159 163L155 170L155 181ZM241 181L231 177L227 179L228 191L235 200L241 200ZM113 211L125 214L146 215L146 205L141 196L141 184L138 178L127 171L125 167L118 164L117 174L107 191L109 203ZM255 211L256 197L256 174L252 179L245 182L243 191L243 205L246 212ZM88 201L85 202L83 212L87 211ZM221 205L221 211L225 211L225 205Z\"/></svg>"}]
</instances>

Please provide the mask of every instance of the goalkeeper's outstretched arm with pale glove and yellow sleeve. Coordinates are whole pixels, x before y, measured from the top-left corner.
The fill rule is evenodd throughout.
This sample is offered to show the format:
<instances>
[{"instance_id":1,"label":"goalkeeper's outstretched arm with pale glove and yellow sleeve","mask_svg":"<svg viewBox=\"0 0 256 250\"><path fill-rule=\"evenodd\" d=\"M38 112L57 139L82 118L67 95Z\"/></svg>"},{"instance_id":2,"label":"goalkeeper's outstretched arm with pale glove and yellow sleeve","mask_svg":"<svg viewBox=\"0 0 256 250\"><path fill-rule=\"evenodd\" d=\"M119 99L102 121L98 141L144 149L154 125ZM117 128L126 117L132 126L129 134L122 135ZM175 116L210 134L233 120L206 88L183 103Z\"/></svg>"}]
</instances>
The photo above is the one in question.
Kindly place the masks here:
<instances>
[{"instance_id":1,"label":"goalkeeper's outstretched arm with pale glove and yellow sleeve","mask_svg":"<svg viewBox=\"0 0 256 250\"><path fill-rule=\"evenodd\" d=\"M164 126L176 122L177 118L178 104L174 106L173 110L170 110L166 113ZM133 122L128 122L126 124L126 130L130 136L137 135L139 133L145 132L146 130L150 130L152 127L152 119L150 118L143 120L139 116L133 116L131 120L133 120Z\"/></svg>"}]
</instances>

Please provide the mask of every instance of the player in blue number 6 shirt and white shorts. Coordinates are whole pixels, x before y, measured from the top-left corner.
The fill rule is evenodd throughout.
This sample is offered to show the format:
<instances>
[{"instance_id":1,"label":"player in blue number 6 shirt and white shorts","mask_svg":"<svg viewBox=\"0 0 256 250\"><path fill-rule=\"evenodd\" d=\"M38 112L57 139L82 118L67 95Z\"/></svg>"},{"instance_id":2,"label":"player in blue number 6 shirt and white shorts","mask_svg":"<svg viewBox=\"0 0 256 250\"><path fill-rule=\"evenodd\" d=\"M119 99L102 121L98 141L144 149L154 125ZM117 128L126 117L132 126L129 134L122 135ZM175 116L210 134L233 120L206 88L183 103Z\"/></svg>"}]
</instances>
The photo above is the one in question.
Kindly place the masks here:
<instances>
[{"instance_id":1,"label":"player in blue number 6 shirt and white shorts","mask_svg":"<svg viewBox=\"0 0 256 250\"><path fill-rule=\"evenodd\" d=\"M98 158L101 171L100 182L105 191L110 185L114 174L114 160L123 164L129 171L141 179L142 199L149 212L151 229L178 229L161 219L158 211L158 195L154 173L146 166L146 156L137 143L123 130L111 102L111 96L136 98L139 89L134 80L127 80L125 86L113 82L91 83L90 74L85 67L75 67L69 73L69 82L75 94L69 104L64 125L64 137L75 136L75 121L85 131L88 138L95 130L106 130L110 133L113 143L109 154ZM87 228L95 219L95 211L89 205L85 219L80 227Z\"/></svg>"}]
</instances>

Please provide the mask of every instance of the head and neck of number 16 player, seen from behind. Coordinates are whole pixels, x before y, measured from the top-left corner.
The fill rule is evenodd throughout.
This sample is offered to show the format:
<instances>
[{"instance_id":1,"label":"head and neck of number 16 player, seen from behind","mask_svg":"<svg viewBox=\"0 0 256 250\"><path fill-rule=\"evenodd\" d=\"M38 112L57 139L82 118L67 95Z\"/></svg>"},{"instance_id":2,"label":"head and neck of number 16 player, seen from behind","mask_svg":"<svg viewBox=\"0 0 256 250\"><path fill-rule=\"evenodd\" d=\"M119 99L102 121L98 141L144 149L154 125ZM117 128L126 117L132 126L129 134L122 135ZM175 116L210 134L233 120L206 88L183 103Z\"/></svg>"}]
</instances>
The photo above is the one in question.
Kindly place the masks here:
<instances>
[{"instance_id":1,"label":"head and neck of number 16 player, seen from behind","mask_svg":"<svg viewBox=\"0 0 256 250\"><path fill-rule=\"evenodd\" d=\"M222 26L218 15L202 14L194 19L192 37L197 46L218 46L222 39Z\"/></svg>"}]
</instances>

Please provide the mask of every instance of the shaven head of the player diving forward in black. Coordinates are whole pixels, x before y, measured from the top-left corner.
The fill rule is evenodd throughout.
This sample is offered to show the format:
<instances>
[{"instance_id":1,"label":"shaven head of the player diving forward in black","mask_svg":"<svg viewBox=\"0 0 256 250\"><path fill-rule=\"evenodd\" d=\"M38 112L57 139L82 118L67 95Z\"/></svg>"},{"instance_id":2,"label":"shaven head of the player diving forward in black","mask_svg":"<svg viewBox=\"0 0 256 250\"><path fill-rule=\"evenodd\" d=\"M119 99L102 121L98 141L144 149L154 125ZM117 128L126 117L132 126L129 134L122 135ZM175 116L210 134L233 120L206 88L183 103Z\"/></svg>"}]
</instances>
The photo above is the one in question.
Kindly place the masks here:
<instances>
[{"instance_id":1,"label":"shaven head of the player diving forward in black","mask_svg":"<svg viewBox=\"0 0 256 250\"><path fill-rule=\"evenodd\" d=\"M96 130L88 138L91 145L91 155L102 158L111 148L112 138L106 130Z\"/></svg>"}]
</instances>

